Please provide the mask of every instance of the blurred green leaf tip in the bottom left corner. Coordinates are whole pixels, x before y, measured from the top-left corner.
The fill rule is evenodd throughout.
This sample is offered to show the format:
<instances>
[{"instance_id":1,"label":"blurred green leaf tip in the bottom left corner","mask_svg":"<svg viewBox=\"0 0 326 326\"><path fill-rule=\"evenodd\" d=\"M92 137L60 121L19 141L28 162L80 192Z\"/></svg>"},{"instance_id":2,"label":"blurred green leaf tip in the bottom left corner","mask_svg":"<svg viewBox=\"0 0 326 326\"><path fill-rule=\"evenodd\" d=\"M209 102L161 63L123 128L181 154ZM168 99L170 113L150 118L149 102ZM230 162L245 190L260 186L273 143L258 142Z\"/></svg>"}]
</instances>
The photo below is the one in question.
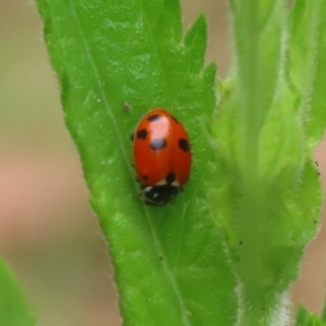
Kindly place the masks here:
<instances>
[{"instance_id":1,"label":"blurred green leaf tip in the bottom left corner","mask_svg":"<svg viewBox=\"0 0 326 326\"><path fill-rule=\"evenodd\" d=\"M36 325L12 272L0 260L0 324L5 326Z\"/></svg>"}]
</instances>

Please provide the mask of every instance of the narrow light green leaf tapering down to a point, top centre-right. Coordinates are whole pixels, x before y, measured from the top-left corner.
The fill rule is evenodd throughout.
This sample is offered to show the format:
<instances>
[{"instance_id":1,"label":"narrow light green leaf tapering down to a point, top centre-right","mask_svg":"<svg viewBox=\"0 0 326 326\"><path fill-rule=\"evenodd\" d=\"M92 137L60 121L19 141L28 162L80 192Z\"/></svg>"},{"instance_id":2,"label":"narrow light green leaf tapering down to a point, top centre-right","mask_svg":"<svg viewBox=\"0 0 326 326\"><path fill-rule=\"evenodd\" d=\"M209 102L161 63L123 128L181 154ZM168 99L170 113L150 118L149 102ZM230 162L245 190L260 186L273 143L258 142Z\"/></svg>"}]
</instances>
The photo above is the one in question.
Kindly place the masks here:
<instances>
[{"instance_id":1,"label":"narrow light green leaf tapering down to a point, top centre-right","mask_svg":"<svg viewBox=\"0 0 326 326\"><path fill-rule=\"evenodd\" d=\"M244 139L248 142L256 139L276 89L285 22L283 2L234 1L237 104L243 115L243 136L252 138Z\"/></svg>"}]
</instances>

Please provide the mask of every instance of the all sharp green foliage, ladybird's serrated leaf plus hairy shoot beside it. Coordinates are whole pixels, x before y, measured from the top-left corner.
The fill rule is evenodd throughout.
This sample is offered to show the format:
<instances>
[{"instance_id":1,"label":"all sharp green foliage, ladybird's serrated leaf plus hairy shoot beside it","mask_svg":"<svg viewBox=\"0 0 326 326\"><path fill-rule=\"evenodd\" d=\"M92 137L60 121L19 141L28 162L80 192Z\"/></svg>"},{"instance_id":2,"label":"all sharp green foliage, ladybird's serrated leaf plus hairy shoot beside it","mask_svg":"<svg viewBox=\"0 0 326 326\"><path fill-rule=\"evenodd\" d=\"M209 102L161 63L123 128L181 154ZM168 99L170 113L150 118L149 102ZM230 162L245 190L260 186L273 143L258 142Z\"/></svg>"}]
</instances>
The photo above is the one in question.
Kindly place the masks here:
<instances>
[{"instance_id":1,"label":"all sharp green foliage, ladybird's serrated leaf plus hairy shoot beside it","mask_svg":"<svg viewBox=\"0 0 326 326\"><path fill-rule=\"evenodd\" d=\"M322 0L230 0L235 62L216 112L205 20L183 37L177 0L36 1L124 325L283 325L322 202ZM185 124L193 151L185 192L160 209L136 196L128 137L155 106Z\"/></svg>"}]
</instances>

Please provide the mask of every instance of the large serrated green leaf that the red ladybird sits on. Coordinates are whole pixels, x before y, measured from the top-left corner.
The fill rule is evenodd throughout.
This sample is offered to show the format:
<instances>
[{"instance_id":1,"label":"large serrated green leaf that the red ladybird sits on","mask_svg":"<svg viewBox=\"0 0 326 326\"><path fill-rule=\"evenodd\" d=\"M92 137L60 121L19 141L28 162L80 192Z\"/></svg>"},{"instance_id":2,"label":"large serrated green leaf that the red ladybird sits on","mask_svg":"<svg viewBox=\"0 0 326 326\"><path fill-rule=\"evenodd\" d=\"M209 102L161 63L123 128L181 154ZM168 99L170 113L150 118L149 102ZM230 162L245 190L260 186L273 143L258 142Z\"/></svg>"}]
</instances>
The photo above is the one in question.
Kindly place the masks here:
<instances>
[{"instance_id":1,"label":"large serrated green leaf that the red ladybird sits on","mask_svg":"<svg viewBox=\"0 0 326 326\"><path fill-rule=\"evenodd\" d=\"M228 325L235 280L205 191L215 159L202 130L215 106L216 67L203 67L204 17L183 39L177 0L37 4L124 325ZM184 123L193 152L190 181L165 208L139 201L131 167L129 133L155 106Z\"/></svg>"}]
</instances>

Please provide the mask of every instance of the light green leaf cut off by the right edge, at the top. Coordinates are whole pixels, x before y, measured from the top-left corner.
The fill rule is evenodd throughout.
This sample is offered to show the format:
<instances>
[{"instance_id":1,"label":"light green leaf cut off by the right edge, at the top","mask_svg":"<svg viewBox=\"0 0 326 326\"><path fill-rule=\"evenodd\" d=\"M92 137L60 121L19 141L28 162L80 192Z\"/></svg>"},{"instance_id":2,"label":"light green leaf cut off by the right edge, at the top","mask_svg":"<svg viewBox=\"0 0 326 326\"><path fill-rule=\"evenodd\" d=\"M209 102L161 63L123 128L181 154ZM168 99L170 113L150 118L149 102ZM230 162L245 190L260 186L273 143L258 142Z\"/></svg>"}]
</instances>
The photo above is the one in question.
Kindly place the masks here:
<instances>
[{"instance_id":1,"label":"light green leaf cut off by the right edge, at the top","mask_svg":"<svg viewBox=\"0 0 326 326\"><path fill-rule=\"evenodd\" d=\"M300 110L310 147L315 147L326 124L326 8L323 0L297 0L290 16L289 75L302 95Z\"/></svg>"}]
</instances>

